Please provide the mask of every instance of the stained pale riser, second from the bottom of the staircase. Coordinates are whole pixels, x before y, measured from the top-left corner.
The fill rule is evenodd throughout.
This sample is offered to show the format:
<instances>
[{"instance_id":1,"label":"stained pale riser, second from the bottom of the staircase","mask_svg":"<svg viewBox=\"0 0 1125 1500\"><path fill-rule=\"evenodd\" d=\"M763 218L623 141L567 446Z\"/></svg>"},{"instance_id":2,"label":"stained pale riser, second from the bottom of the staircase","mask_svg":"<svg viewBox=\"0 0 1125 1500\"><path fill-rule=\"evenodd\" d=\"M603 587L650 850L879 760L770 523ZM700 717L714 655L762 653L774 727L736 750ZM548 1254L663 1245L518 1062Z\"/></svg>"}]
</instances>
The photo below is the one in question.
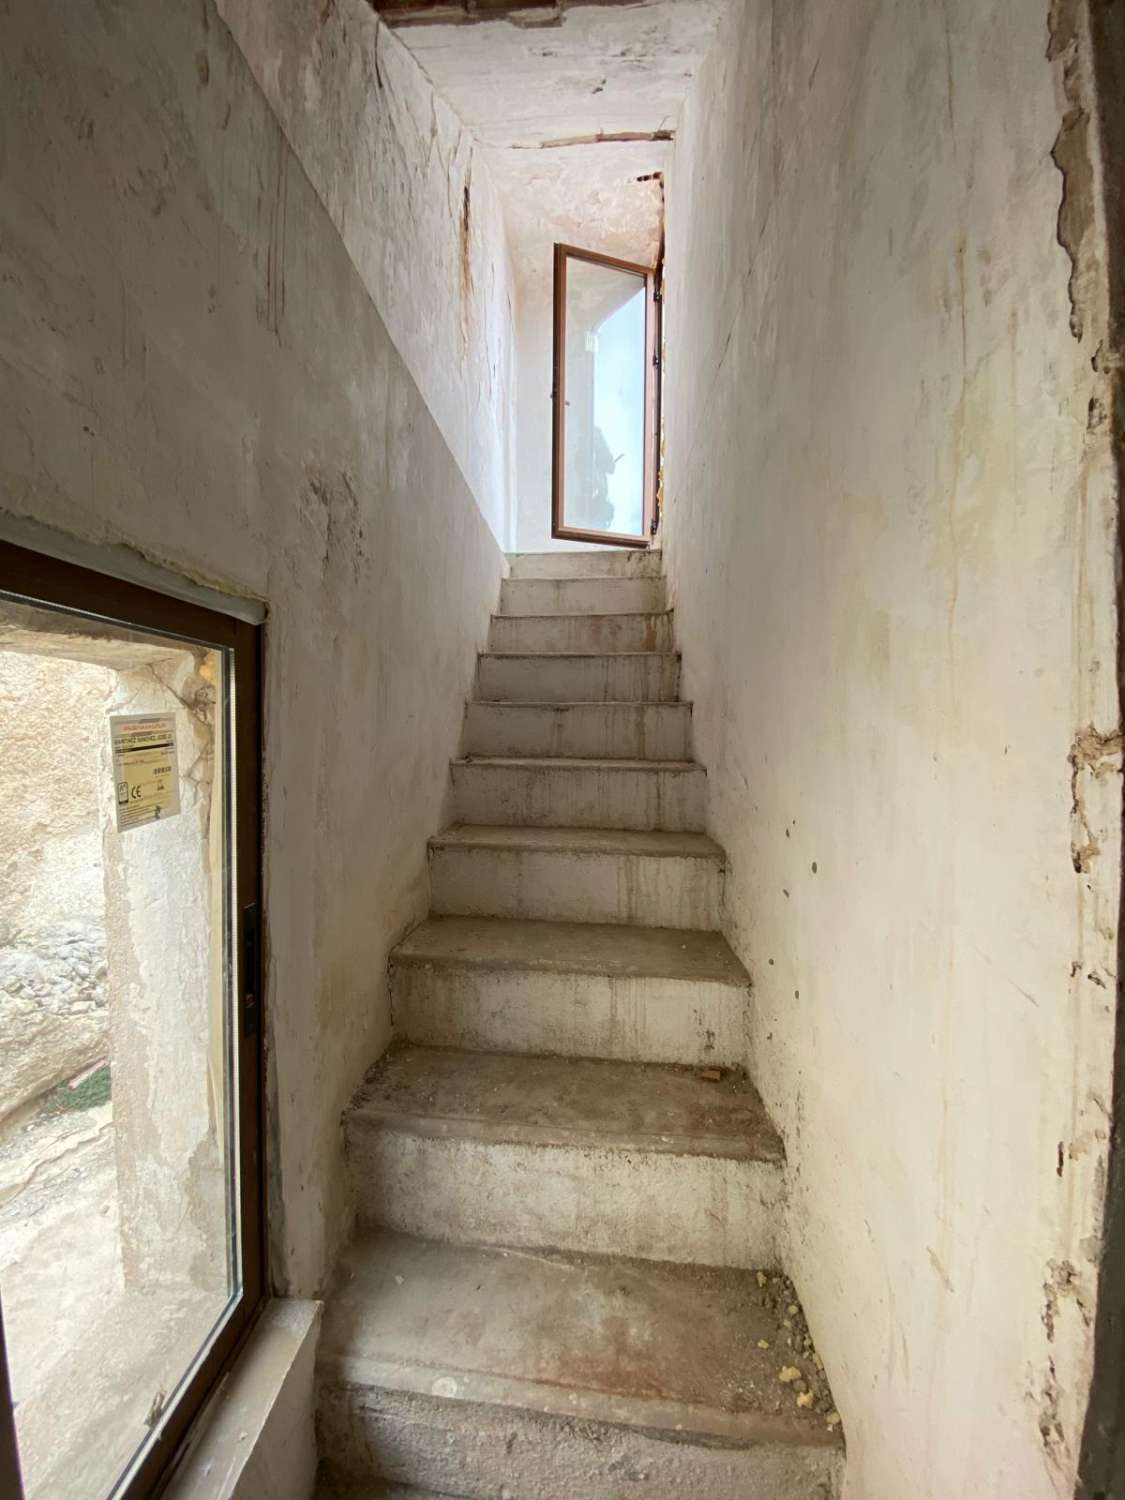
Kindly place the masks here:
<instances>
[{"instance_id":1,"label":"stained pale riser, second from the bottom of the staircase","mask_svg":"<svg viewBox=\"0 0 1125 1500\"><path fill-rule=\"evenodd\" d=\"M453 1244L776 1266L782 1168L346 1125L360 1221Z\"/></svg>"}]
</instances>

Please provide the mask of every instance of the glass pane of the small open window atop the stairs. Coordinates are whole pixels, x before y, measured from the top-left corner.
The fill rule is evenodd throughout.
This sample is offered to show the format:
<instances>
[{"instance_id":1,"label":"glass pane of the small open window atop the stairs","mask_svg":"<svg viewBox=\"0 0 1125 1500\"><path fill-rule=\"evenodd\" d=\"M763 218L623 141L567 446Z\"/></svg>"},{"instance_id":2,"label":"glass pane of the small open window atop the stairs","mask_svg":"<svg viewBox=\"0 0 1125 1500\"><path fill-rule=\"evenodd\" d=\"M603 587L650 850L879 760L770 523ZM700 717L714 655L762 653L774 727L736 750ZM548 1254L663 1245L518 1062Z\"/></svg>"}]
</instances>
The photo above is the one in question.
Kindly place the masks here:
<instances>
[{"instance_id":1,"label":"glass pane of the small open window atop the stairs","mask_svg":"<svg viewBox=\"0 0 1125 1500\"><path fill-rule=\"evenodd\" d=\"M564 524L645 530L644 276L567 258Z\"/></svg>"}]
</instances>

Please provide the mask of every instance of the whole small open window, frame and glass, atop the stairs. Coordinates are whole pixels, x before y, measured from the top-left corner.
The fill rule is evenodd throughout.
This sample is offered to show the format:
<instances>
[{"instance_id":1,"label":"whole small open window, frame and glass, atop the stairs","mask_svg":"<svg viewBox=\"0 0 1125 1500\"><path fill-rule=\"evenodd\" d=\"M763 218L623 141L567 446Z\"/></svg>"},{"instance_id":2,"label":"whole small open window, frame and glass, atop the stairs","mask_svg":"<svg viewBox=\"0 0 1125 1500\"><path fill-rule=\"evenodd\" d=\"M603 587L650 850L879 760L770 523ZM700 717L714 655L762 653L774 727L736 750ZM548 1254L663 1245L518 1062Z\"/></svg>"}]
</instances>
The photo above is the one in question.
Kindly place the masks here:
<instances>
[{"instance_id":1,"label":"whole small open window, frame and glass, atop the stairs","mask_svg":"<svg viewBox=\"0 0 1125 1500\"><path fill-rule=\"evenodd\" d=\"M658 318L654 268L555 246L550 534L558 540L651 544Z\"/></svg>"}]
</instances>

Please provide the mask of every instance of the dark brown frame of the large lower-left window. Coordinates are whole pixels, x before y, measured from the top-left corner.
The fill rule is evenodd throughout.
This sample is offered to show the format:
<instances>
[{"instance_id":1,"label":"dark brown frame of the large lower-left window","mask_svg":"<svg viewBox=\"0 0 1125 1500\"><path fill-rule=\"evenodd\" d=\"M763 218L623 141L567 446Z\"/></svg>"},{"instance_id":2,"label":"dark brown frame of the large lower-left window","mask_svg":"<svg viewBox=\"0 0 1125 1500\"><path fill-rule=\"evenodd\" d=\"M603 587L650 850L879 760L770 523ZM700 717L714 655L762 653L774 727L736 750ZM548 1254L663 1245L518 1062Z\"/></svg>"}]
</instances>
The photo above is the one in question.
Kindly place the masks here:
<instances>
[{"instance_id":1,"label":"dark brown frame of the large lower-left window","mask_svg":"<svg viewBox=\"0 0 1125 1500\"><path fill-rule=\"evenodd\" d=\"M230 651L234 714L234 818L231 844L236 884L231 892L231 992L238 996L232 1016L237 1059L236 1154L238 1166L238 1252L242 1293L190 1380L168 1407L156 1436L144 1449L128 1484L114 1500L141 1500L156 1494L218 1382L234 1362L266 1299L266 1176L264 1176L264 964L261 890L261 684L262 627L204 604L124 582L106 573L63 562L15 543L0 542L0 602L63 609L132 630L189 639ZM0 1311L0 1494L22 1496L15 1416L8 1380L8 1358Z\"/></svg>"}]
</instances>

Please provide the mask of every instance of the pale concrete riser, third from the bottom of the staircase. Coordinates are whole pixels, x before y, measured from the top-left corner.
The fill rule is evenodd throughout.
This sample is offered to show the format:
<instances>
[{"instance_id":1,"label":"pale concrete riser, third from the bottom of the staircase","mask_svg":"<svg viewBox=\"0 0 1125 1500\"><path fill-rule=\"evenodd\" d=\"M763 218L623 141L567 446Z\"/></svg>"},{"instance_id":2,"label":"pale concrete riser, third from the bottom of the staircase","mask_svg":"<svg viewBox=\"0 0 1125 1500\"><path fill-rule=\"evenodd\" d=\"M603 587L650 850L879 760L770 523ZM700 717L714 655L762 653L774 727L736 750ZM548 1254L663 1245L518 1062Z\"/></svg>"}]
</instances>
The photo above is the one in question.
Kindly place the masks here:
<instances>
[{"instance_id":1,"label":"pale concrete riser, third from the bottom of the staircase","mask_svg":"<svg viewBox=\"0 0 1125 1500\"><path fill-rule=\"evenodd\" d=\"M465 1052L735 1066L748 988L699 980L393 964L394 1030Z\"/></svg>"}]
</instances>

